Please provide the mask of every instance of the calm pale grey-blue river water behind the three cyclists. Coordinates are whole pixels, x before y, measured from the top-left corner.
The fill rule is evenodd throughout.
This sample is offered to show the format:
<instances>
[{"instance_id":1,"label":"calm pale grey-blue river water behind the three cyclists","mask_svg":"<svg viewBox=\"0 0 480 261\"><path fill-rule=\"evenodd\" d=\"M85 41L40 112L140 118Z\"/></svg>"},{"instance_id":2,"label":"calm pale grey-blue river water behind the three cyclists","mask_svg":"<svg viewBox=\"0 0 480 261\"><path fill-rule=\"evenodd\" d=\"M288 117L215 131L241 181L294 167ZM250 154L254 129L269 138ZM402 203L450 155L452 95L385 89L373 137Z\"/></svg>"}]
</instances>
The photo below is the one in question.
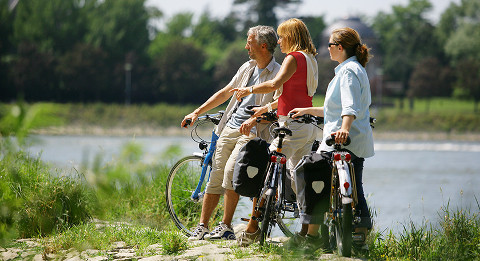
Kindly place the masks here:
<instances>
[{"instance_id":1,"label":"calm pale grey-blue river water behind the three cyclists","mask_svg":"<svg viewBox=\"0 0 480 261\"><path fill-rule=\"evenodd\" d=\"M101 154L105 161L135 141L143 146L145 161L154 161L166 148L179 145L187 154L198 151L190 137L105 137L34 135L32 155L61 168L92 162ZM375 156L365 161L364 190L374 209L379 231L401 233L413 221L436 224L442 207L480 212L476 198L480 185L480 142L375 141ZM240 202L236 217L247 217L248 199ZM237 214L238 213L238 214ZM238 220L236 218L235 220Z\"/></svg>"}]
</instances>

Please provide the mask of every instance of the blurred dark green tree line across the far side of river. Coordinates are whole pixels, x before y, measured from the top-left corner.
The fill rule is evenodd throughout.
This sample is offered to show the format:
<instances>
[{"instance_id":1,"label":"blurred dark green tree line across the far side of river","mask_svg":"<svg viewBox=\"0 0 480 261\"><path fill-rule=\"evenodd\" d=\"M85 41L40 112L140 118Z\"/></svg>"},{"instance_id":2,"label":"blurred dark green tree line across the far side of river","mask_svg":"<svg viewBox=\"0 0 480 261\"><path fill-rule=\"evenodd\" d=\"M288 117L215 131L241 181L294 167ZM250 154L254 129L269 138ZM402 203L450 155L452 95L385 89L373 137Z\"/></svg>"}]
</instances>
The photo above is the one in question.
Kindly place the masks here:
<instances>
[{"instance_id":1,"label":"blurred dark green tree line across the far side of river","mask_svg":"<svg viewBox=\"0 0 480 261\"><path fill-rule=\"evenodd\" d=\"M0 0L0 101L177 104L202 102L228 83L248 59L246 30L276 27L276 10L294 14L301 4L235 0L223 18L208 11L166 18L146 0L11 2ZM451 3L435 24L426 18L431 9L428 0L410 0L362 17L379 39L383 79L401 83L391 95L477 104L480 2ZM324 48L324 17L300 18ZM283 59L278 50L275 56ZM333 65L319 66L332 73Z\"/></svg>"}]
</instances>

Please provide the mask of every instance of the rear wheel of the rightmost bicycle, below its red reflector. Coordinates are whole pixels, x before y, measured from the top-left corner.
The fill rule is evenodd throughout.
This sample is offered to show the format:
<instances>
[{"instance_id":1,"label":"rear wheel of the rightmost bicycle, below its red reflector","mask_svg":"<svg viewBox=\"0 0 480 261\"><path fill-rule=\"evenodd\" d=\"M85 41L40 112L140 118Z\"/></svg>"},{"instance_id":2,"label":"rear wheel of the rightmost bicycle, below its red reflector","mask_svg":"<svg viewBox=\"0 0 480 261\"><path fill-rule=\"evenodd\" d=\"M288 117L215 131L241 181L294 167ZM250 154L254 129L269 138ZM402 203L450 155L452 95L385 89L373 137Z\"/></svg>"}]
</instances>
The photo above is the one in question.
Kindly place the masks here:
<instances>
[{"instance_id":1,"label":"rear wheel of the rightmost bicycle, below its red reflector","mask_svg":"<svg viewBox=\"0 0 480 261\"><path fill-rule=\"evenodd\" d=\"M349 257L352 254L352 204L340 203L339 206L341 215L335 223L337 249L340 256Z\"/></svg>"}]
</instances>

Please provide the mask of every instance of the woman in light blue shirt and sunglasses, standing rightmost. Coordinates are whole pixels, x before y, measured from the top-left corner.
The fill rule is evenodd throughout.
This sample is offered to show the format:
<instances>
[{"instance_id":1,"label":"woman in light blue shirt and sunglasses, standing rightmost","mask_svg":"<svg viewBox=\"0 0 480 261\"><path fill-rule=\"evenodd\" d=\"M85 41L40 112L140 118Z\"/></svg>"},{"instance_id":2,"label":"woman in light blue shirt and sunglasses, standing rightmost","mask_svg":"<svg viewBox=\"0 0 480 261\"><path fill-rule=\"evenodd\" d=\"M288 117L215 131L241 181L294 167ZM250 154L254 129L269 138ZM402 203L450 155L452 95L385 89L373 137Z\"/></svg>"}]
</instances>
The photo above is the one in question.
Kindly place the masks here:
<instances>
[{"instance_id":1,"label":"woman in light blue shirt and sunglasses, standing rightmost","mask_svg":"<svg viewBox=\"0 0 480 261\"><path fill-rule=\"evenodd\" d=\"M369 48L361 43L359 34L351 28L334 30L328 43L330 58L339 65L329 83L323 107L296 108L293 117L312 114L324 117L323 141L319 151L332 151L325 139L335 134L336 143L344 143L350 136L352 142L345 146L352 152L355 168L360 224L356 232L366 236L372 227L370 213L362 186L363 162L374 155L372 128L370 126L370 83L365 65L370 59ZM309 224L307 238L318 237L319 224ZM318 246L321 247L321 246Z\"/></svg>"}]
</instances>

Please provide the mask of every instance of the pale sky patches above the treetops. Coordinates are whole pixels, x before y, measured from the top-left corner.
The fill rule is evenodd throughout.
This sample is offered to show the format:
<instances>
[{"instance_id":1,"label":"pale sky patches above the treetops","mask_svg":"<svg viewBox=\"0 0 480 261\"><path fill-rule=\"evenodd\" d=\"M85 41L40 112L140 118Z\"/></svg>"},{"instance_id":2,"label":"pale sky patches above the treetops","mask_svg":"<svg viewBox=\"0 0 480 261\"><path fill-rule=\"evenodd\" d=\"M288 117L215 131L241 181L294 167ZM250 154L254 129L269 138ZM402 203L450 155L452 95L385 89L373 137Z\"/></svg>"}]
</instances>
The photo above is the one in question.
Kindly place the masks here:
<instances>
[{"instance_id":1,"label":"pale sky patches above the treetops","mask_svg":"<svg viewBox=\"0 0 480 261\"><path fill-rule=\"evenodd\" d=\"M461 0L430 0L433 8L427 18L433 23L440 20L441 13L454 2L459 4ZM147 0L147 6L155 6L160 9L165 18L168 19L174 14L180 12L193 12L198 17L205 10L209 10L213 17L223 18L231 10L233 0ZM336 19L353 15L364 15L374 17L378 12L392 12L393 5L408 5L409 0L342 0L342 1L322 1L322 0L303 0L298 7L295 15L292 16L320 16L323 15L325 22L332 23ZM279 20L282 20L279 15ZM286 17L285 17L286 18Z\"/></svg>"}]
</instances>

